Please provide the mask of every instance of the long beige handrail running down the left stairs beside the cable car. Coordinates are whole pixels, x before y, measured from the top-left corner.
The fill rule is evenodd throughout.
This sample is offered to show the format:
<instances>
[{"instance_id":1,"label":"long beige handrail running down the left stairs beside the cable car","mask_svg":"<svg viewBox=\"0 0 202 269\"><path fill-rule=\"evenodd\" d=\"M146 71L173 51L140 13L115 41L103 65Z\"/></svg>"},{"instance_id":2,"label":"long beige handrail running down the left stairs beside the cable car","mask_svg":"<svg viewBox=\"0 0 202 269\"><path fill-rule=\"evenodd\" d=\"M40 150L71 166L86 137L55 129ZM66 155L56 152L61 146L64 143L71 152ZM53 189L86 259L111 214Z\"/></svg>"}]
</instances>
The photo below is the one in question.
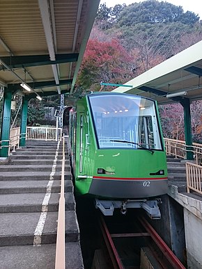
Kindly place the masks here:
<instances>
[{"instance_id":1,"label":"long beige handrail running down the left stairs beside the cable car","mask_svg":"<svg viewBox=\"0 0 202 269\"><path fill-rule=\"evenodd\" d=\"M59 217L56 239L55 269L65 269L65 138L63 136L63 162L61 175L61 197L59 199Z\"/></svg>"}]
</instances>

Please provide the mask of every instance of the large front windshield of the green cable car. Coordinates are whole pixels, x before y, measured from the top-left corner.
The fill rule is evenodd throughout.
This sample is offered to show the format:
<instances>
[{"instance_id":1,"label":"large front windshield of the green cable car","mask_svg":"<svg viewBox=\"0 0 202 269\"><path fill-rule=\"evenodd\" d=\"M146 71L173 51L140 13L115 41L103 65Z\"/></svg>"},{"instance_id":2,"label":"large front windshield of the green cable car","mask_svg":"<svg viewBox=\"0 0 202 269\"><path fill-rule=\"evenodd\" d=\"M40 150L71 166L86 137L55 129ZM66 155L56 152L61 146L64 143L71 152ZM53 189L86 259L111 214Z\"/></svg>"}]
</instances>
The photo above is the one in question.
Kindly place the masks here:
<instances>
[{"instance_id":1,"label":"large front windshield of the green cable car","mask_svg":"<svg viewBox=\"0 0 202 269\"><path fill-rule=\"evenodd\" d=\"M162 150L155 102L132 95L90 95L100 148Z\"/></svg>"}]
</instances>

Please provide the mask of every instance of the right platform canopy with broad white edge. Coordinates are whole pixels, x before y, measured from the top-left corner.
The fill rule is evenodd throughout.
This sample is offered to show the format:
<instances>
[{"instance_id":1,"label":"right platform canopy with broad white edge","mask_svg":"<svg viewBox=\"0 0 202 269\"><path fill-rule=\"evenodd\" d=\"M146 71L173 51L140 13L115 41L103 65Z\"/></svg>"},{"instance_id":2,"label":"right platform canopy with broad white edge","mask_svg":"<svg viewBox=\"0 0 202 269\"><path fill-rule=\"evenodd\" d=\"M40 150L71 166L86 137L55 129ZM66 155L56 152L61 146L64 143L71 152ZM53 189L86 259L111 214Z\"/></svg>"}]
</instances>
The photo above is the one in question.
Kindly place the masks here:
<instances>
[{"instance_id":1,"label":"right platform canopy with broad white edge","mask_svg":"<svg viewBox=\"0 0 202 269\"><path fill-rule=\"evenodd\" d=\"M202 99L202 41L120 86L125 92L157 100L158 104Z\"/></svg>"}]
</instances>

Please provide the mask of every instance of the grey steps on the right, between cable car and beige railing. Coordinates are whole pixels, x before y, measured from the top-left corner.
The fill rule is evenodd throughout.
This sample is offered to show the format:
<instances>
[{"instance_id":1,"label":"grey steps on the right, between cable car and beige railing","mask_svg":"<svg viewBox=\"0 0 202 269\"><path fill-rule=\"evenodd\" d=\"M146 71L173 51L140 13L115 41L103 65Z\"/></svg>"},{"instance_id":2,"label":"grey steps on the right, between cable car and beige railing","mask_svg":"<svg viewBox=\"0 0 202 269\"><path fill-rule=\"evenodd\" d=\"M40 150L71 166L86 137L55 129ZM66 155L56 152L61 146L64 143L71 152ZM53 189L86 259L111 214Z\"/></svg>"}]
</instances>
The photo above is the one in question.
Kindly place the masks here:
<instances>
[{"instance_id":1,"label":"grey steps on the right, between cable car and beige railing","mask_svg":"<svg viewBox=\"0 0 202 269\"><path fill-rule=\"evenodd\" d=\"M167 156L169 184L178 186L179 193L186 193L187 179L185 161L174 156Z\"/></svg>"}]
</instances>

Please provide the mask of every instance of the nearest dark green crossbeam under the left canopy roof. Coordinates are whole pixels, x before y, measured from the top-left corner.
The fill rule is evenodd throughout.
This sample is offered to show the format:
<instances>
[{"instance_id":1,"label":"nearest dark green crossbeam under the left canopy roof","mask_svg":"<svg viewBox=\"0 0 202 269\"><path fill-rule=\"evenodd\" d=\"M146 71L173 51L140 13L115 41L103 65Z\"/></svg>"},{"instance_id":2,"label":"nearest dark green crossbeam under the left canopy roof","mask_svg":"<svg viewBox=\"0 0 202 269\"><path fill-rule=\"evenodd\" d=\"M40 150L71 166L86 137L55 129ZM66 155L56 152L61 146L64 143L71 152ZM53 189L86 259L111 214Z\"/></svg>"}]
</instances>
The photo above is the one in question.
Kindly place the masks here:
<instances>
[{"instance_id":1,"label":"nearest dark green crossbeam under the left canopy roof","mask_svg":"<svg viewBox=\"0 0 202 269\"><path fill-rule=\"evenodd\" d=\"M10 69L24 68L40 65L56 65L59 63L71 63L76 62L79 54L56 54L56 60L50 60L49 55L28 55L28 56L6 56L1 57L6 65ZM3 70L3 66L0 65L0 70Z\"/></svg>"}]
</instances>

